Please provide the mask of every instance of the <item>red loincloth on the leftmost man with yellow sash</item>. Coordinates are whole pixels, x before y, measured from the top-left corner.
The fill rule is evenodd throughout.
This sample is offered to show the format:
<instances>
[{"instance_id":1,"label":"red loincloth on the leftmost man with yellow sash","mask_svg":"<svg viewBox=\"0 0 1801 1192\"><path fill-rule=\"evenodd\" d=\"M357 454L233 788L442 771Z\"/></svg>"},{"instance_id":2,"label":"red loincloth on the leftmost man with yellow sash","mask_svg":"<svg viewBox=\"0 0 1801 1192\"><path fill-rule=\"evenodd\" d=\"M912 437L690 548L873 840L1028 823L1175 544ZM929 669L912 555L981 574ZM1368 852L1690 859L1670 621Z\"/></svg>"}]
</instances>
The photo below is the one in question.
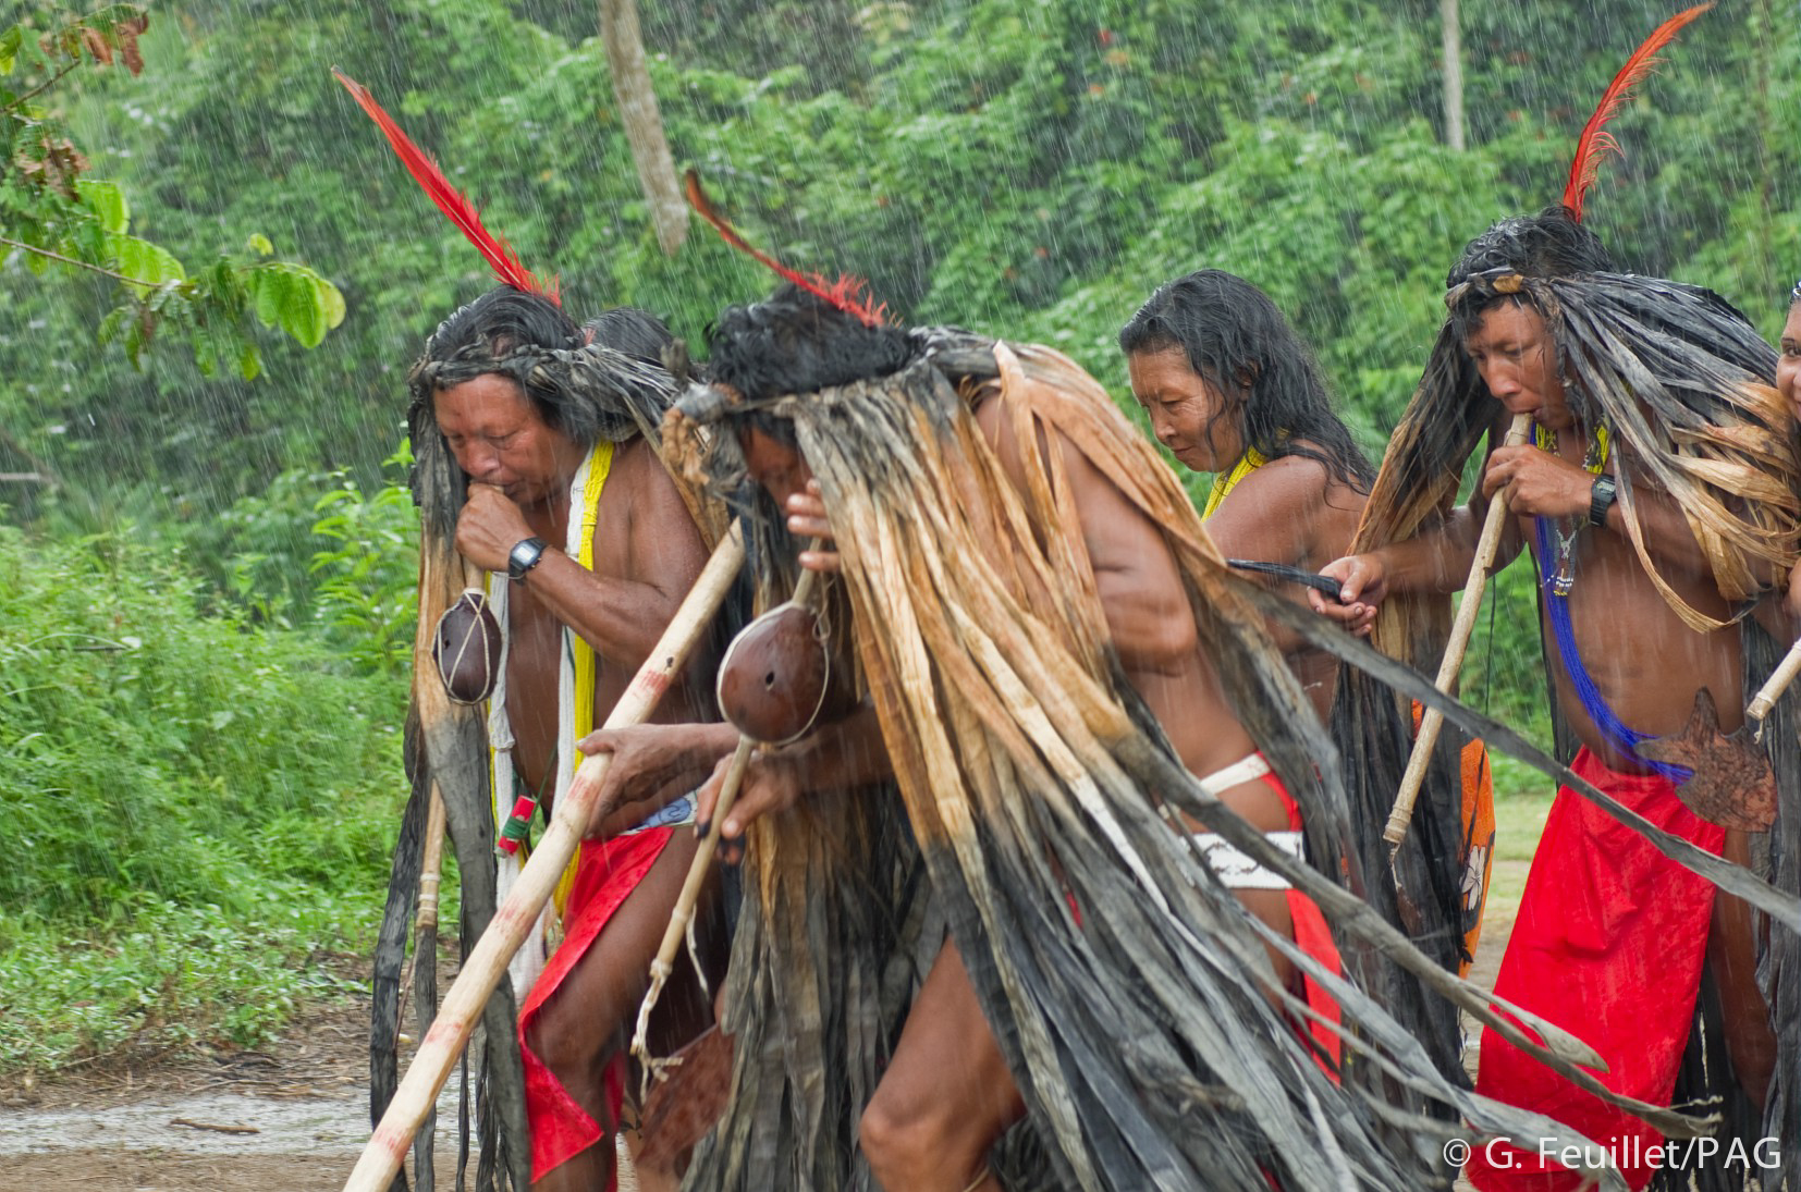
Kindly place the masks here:
<instances>
[{"instance_id":1,"label":"red loincloth on the leftmost man with yellow sash","mask_svg":"<svg viewBox=\"0 0 1801 1192\"><path fill-rule=\"evenodd\" d=\"M564 906L564 942L544 965L544 974L531 987L519 1012L519 1052L526 1068L526 1116L531 1122L531 1179L533 1183L560 1163L567 1163L605 1136L582 1106L575 1102L562 1080L533 1055L526 1032L537 1021L544 1003L557 994L564 980L582 962L600 938L602 929L620 904L638 889L650 866L663 855L675 828L648 828L634 835L616 835L611 841L584 841L576 861L575 884ZM625 1100L625 1080L618 1064L607 1070L607 1113L620 1120ZM607 1185L612 1192L616 1181Z\"/></svg>"}]
</instances>

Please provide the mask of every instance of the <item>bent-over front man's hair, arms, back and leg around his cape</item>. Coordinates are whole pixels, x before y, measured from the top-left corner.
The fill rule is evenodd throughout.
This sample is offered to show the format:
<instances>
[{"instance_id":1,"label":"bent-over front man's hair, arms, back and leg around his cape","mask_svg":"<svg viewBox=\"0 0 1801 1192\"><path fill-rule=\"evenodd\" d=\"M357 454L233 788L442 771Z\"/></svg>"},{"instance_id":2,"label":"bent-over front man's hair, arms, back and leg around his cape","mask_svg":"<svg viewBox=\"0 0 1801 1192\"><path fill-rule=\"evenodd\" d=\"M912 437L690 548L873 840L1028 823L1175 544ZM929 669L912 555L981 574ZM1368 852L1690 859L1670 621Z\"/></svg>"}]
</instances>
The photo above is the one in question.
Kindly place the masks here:
<instances>
[{"instance_id":1,"label":"bent-over front man's hair, arms, back and leg around his cape","mask_svg":"<svg viewBox=\"0 0 1801 1192\"><path fill-rule=\"evenodd\" d=\"M821 339L810 340L809 335ZM906 364L913 351L900 331L881 328L872 333L879 342L868 344L863 355L834 357L832 337L845 335L861 331L845 315L789 286L769 303L735 308L720 317L710 367L720 387L756 402L881 376ZM803 342L796 346L792 337ZM782 344L789 355L774 358L767 355L767 344ZM879 351L897 353L895 360L872 367L868 353ZM1016 411L1009 402L1001 393L985 393L974 418L1007 477L1027 492L1034 483L1030 468L1048 465L1028 463L1036 450L1028 456L1014 438ZM809 488L812 474L791 425L774 416L740 418L728 425L737 430L751 479L789 511L789 528L801 537L827 535L825 508L818 490ZM1079 535L1104 607L1109 643L1133 690L1158 717L1189 771L1216 780L1210 785L1219 798L1253 826L1299 844L1299 808L1268 772L1268 763L1221 690L1176 556L1160 526L1081 445L1057 430L1050 430L1048 438L1043 434L1037 450L1055 454L1054 470L1066 481L1079 510ZM1061 533L1054 526L1036 529ZM801 562L825 571L837 565L830 551L809 553ZM688 742L695 740L693 731L670 733L688 733ZM737 848L758 816L785 812L816 790L854 787L886 771L888 749L868 706L796 745L758 754L738 803L722 823L728 846ZM701 792L702 819L717 787L719 774ZM1243 855L1237 859L1244 861ZM1219 857L1216 868L1230 868L1230 857ZM1235 893L1259 918L1293 938L1306 936L1309 945L1331 954L1311 900L1272 880L1273 875L1257 866L1246 866L1241 877ZM1286 956L1272 951L1272 960L1281 981L1302 987L1304 978ZM1306 985L1311 987L1311 981ZM1308 989L1304 996L1320 1012L1336 1016L1324 992ZM1329 1032L1318 1039L1327 1053L1335 1052ZM983 1016L964 953L955 938L944 938L908 1010L886 1073L863 1109L857 1143L884 1188L985 1190L998 1187L987 1169L989 1151L1023 1115L1025 1102Z\"/></svg>"}]
</instances>

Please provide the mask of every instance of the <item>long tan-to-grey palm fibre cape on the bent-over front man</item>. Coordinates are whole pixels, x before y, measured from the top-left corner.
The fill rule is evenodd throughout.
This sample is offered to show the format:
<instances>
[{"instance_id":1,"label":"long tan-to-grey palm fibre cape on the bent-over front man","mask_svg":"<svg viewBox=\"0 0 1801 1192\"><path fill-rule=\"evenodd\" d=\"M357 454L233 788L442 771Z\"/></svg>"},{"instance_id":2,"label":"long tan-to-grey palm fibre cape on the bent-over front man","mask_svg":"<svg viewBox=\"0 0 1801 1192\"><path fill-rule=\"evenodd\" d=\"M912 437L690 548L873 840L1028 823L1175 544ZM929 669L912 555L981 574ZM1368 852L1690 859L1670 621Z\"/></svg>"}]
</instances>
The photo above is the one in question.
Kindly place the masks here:
<instances>
[{"instance_id":1,"label":"long tan-to-grey palm fibre cape on the bent-over front man","mask_svg":"<svg viewBox=\"0 0 1801 1192\"><path fill-rule=\"evenodd\" d=\"M1025 1097L1021 1149L1039 1147L1054 1172L1025 1187L1448 1187L1441 1152L1459 1127L1446 1111L1482 1133L1574 1138L1446 1079L1412 1025L1365 992L1378 956L1403 965L1612 1097L1570 1062L1592 1062L1579 1041L1527 1017L1556 1053L1538 1048L1353 893L1336 751L1268 643L1255 589L1230 576L1149 443L1050 349L915 340L920 357L893 375L762 405L792 421L821 484L899 805L816 799L753 826L726 998L733 1100L686 1187L868 1185L855 1115L893 1046L928 897L908 839ZM1036 456L1023 493L973 418L987 400L1007 403ZM677 414L715 421L733 402L744 409L692 389ZM1207 796L1124 682L1063 456L1037 454L1039 430L1163 528L1234 708L1302 808L1311 864ZM711 450L715 479L742 475L735 436ZM753 535L771 565L780 535L773 504L760 508ZM1347 976L1250 917L1176 812L1313 897ZM1336 1079L1297 1030L1309 1010L1275 981L1264 944L1338 999ZM1679 1113L1628 1107L1695 1133Z\"/></svg>"}]
</instances>

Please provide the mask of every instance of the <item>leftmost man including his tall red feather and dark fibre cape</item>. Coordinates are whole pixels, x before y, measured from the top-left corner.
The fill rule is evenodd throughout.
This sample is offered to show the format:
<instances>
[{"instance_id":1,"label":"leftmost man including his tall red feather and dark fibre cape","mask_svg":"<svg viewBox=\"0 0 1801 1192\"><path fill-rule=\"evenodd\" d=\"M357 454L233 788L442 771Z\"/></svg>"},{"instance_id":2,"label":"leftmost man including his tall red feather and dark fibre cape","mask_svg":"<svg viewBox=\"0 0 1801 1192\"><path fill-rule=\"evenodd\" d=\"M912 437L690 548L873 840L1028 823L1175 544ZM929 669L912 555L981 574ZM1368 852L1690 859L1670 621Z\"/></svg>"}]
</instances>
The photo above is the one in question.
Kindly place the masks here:
<instances>
[{"instance_id":1,"label":"leftmost man including his tall red feather and dark fibre cape","mask_svg":"<svg viewBox=\"0 0 1801 1192\"><path fill-rule=\"evenodd\" d=\"M674 346L668 330L629 308L576 326L555 277L546 284L529 272L375 95L333 74L504 283L445 319L407 376L423 529L420 614L423 628L443 612L434 650L443 684L416 668L407 742L414 794L376 953L371 1102L380 1118L393 1095L387 990L403 944L394 911L411 899L409 866L418 879L418 812L427 799L445 807L470 947L519 873L533 819L538 812L549 819L555 799L567 794L582 762L576 742L605 720L657 645L701 574L722 515L659 459L661 421L677 385L663 362ZM472 587L454 600L463 574ZM728 601L719 630L729 632L733 619ZM654 718L711 718L702 693L717 657L717 643L695 650ZM470 708L452 704L484 704L484 731ZM535 1188L614 1187L623 1043L695 853L693 837L675 832L692 816L693 799L675 790L648 816L591 825L598 839L584 841L555 913L546 911L513 958L511 989L488 1001L479 1188L495 1187L495 1167L499 1187L517 1188L528 1178ZM717 893L710 884L702 895L708 913L697 918L690 953L711 972L697 980L684 965L675 974L654 1025L663 1046L686 1043L711 1014L701 990L719 978ZM423 962L430 974L434 958ZM421 989L421 1010L430 1014L436 985L427 976ZM529 1161L515 1142L526 1125L520 1116L529 1120ZM429 1131L418 1151L423 1187ZM639 1172L639 1187L654 1179Z\"/></svg>"}]
</instances>

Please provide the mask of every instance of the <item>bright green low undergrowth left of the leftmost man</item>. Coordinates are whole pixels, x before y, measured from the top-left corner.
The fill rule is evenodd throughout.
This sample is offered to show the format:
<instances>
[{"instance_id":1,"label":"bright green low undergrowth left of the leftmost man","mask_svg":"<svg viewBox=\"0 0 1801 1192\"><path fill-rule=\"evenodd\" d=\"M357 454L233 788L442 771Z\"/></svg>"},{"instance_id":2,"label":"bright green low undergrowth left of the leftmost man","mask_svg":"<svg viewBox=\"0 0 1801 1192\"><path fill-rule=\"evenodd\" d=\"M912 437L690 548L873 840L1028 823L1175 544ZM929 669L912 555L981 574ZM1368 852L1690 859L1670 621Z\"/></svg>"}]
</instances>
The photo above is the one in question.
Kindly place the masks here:
<instances>
[{"instance_id":1,"label":"bright green low undergrowth left of the leftmost man","mask_svg":"<svg viewBox=\"0 0 1801 1192\"><path fill-rule=\"evenodd\" d=\"M252 1041L367 945L403 690L209 600L155 533L0 528L0 1070Z\"/></svg>"}]
</instances>

